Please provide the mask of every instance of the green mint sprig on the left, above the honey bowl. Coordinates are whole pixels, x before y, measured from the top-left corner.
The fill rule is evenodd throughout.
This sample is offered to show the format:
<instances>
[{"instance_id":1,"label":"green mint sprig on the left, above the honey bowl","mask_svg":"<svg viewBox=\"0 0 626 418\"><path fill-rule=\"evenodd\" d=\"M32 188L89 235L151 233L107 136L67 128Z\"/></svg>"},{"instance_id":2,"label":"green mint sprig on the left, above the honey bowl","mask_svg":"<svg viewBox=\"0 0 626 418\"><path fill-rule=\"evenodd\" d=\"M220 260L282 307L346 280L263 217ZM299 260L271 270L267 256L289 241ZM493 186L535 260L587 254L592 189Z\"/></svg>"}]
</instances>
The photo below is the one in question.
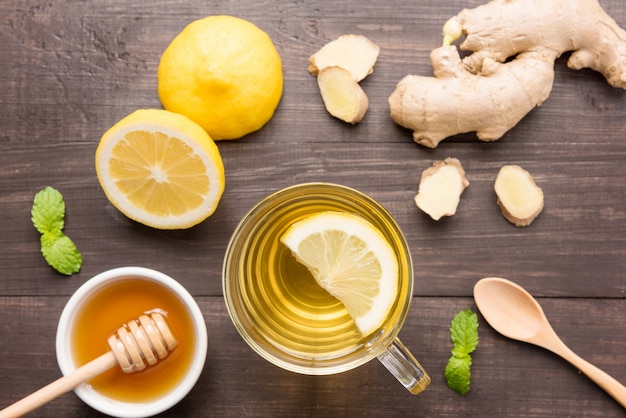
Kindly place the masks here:
<instances>
[{"instance_id":1,"label":"green mint sprig on the left, above the honey bowl","mask_svg":"<svg viewBox=\"0 0 626 418\"><path fill-rule=\"evenodd\" d=\"M65 201L61 193L45 187L35 195L30 213L35 229L41 234L41 253L46 262L61 274L77 273L83 258L74 242L63 233Z\"/></svg>"}]
</instances>

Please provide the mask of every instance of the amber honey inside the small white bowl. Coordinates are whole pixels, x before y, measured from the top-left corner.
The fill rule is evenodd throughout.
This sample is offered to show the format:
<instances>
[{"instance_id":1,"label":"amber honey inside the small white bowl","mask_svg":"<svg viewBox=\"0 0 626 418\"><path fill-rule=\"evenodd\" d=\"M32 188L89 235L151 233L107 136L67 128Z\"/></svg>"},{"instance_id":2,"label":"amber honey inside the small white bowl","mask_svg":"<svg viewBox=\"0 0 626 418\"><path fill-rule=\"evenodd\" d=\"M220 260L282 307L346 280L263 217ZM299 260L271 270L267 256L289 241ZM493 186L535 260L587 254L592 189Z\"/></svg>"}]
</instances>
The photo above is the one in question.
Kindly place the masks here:
<instances>
[{"instance_id":1,"label":"amber honey inside the small white bowl","mask_svg":"<svg viewBox=\"0 0 626 418\"><path fill-rule=\"evenodd\" d=\"M71 333L74 362L80 367L106 353L110 350L107 339L120 326L155 310L165 315L178 346L142 371L108 370L88 382L94 390L117 401L140 403L164 396L182 381L196 346L191 315L167 287L139 277L112 282L84 302Z\"/></svg>"}]
</instances>

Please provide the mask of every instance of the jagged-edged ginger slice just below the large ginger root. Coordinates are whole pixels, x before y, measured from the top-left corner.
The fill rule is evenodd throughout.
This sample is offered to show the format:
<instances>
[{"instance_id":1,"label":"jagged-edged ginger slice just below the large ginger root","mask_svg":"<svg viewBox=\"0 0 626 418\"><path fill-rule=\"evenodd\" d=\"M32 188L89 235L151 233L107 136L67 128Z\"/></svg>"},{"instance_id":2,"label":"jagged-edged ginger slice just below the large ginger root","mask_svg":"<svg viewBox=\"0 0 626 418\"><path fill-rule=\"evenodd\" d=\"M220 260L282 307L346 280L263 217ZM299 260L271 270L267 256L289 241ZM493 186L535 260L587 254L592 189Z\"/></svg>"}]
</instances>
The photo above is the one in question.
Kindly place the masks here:
<instances>
[{"instance_id":1,"label":"jagged-edged ginger slice just below the large ginger root","mask_svg":"<svg viewBox=\"0 0 626 418\"><path fill-rule=\"evenodd\" d=\"M456 213L461 194L469 186L465 170L456 158L435 161L422 172L415 204L435 221Z\"/></svg>"}]
</instances>

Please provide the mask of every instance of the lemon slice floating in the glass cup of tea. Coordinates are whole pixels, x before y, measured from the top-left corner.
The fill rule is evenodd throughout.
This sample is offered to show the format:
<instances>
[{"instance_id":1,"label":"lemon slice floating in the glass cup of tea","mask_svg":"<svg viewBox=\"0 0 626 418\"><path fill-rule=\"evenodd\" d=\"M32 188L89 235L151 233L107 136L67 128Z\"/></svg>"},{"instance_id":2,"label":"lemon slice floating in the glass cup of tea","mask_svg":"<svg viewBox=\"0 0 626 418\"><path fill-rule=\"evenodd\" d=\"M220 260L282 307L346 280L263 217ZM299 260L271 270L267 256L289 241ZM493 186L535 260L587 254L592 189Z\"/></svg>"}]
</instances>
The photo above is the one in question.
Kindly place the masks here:
<instances>
[{"instance_id":1,"label":"lemon slice floating in the glass cup of tea","mask_svg":"<svg viewBox=\"0 0 626 418\"><path fill-rule=\"evenodd\" d=\"M363 335L381 327L398 294L398 261L384 235L364 218L320 212L282 235L317 283L336 297Z\"/></svg>"}]
</instances>

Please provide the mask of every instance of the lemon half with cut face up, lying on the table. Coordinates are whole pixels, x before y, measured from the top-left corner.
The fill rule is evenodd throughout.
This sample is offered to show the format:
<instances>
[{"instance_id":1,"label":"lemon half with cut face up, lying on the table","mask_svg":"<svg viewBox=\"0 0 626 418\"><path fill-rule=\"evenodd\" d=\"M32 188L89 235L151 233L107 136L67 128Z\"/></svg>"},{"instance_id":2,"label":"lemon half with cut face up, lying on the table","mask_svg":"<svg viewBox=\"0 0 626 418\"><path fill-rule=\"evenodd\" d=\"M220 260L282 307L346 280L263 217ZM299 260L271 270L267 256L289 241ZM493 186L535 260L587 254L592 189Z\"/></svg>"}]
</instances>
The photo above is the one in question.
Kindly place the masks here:
<instances>
[{"instance_id":1,"label":"lemon half with cut face up, lying on the table","mask_svg":"<svg viewBox=\"0 0 626 418\"><path fill-rule=\"evenodd\" d=\"M100 139L98 181L127 217L158 229L183 229L209 217L224 191L224 165L198 124L161 109L131 113Z\"/></svg>"}]
</instances>

